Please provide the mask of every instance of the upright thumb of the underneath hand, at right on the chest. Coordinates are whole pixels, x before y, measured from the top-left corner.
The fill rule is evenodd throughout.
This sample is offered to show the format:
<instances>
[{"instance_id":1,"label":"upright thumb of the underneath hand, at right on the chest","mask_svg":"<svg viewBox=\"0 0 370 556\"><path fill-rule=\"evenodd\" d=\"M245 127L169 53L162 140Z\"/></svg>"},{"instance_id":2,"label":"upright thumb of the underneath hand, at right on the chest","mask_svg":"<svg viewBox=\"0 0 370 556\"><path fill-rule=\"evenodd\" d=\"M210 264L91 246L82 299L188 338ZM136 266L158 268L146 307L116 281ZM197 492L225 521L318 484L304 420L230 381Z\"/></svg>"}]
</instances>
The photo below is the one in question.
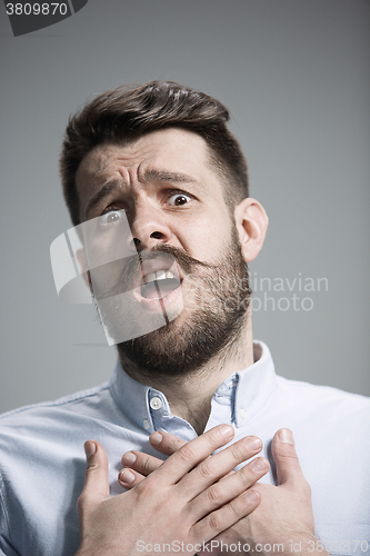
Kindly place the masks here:
<instances>
[{"instance_id":1,"label":"upright thumb of the underneath hand, at right on the chest","mask_svg":"<svg viewBox=\"0 0 370 556\"><path fill-rule=\"evenodd\" d=\"M272 439L272 456L277 466L278 484L306 483L289 428L278 430Z\"/></svg>"}]
</instances>

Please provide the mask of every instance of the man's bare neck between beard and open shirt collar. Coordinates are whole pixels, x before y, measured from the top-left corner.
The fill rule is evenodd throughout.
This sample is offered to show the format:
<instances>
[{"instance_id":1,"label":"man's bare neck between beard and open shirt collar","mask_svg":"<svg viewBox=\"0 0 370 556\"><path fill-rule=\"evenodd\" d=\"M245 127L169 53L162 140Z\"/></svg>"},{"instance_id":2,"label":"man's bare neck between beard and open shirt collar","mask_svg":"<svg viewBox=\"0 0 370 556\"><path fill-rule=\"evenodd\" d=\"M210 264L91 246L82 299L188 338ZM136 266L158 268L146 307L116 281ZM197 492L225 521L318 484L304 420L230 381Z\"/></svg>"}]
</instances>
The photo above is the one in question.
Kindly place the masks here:
<instances>
[{"instance_id":1,"label":"man's bare neck between beard and open shirt collar","mask_svg":"<svg viewBox=\"0 0 370 556\"><path fill-rule=\"evenodd\" d=\"M149 384L148 378L142 379L140 370L124 356L121 356L121 364L133 379L162 391L168 399L172 415L186 419L200 435L206 428L211 411L211 399L217 388L230 375L253 364L250 319L238 340L191 375L173 380L170 377L163 379L153 376Z\"/></svg>"}]
</instances>

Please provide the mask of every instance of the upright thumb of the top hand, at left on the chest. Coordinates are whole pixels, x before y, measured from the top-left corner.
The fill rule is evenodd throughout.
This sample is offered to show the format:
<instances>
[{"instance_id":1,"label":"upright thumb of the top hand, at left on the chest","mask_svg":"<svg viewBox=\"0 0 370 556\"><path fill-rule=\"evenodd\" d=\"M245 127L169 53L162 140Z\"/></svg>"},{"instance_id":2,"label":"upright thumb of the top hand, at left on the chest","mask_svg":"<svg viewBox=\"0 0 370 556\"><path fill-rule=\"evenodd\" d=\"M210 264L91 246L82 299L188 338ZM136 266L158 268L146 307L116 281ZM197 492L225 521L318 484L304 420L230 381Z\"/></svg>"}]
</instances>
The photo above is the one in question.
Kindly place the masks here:
<instances>
[{"instance_id":1,"label":"upright thumb of the top hand, at left on the chest","mask_svg":"<svg viewBox=\"0 0 370 556\"><path fill-rule=\"evenodd\" d=\"M97 440L84 443L87 468L79 507L109 498L108 457Z\"/></svg>"}]
</instances>

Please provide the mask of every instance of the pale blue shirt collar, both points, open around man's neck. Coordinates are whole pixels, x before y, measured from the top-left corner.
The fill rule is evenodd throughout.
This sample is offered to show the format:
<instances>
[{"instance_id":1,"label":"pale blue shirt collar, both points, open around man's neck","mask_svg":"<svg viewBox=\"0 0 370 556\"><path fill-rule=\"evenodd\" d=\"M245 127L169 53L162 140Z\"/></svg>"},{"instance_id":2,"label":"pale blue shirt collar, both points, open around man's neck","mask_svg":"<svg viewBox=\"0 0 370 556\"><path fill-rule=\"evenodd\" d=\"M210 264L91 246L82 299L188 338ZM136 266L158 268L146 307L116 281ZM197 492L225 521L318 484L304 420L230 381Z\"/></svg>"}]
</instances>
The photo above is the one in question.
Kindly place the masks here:
<instances>
[{"instance_id":1,"label":"pale blue shirt collar, both points, open around man's neck","mask_svg":"<svg viewBox=\"0 0 370 556\"><path fill-rule=\"evenodd\" d=\"M228 377L213 395L213 400L218 404L231 405L232 420L237 427L244 425L254 415L277 386L269 348L262 341L256 341L253 347L254 360L258 360ZM168 419L171 415L166 396L131 378L122 369L119 359L110 380L110 391L119 408L148 434L160 428L158 424L161 418Z\"/></svg>"}]
</instances>

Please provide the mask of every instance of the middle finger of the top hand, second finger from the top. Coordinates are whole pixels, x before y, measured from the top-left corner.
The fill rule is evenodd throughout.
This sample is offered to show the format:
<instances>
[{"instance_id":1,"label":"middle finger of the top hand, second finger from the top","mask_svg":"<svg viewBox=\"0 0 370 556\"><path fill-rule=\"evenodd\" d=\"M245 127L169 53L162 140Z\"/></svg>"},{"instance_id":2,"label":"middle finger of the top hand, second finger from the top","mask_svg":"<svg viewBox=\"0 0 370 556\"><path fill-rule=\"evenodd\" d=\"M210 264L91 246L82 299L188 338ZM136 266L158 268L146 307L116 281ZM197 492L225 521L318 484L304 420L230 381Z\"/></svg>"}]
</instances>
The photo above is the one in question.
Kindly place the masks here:
<instances>
[{"instance_id":1,"label":"middle finger of the top hand, second finger from the top","mask_svg":"<svg viewBox=\"0 0 370 556\"><path fill-rule=\"evenodd\" d=\"M256 456L261 449L262 441L260 438L257 436L247 436L218 454L214 454L212 457L201 461L180 481L188 490L189 499L230 473L237 465Z\"/></svg>"}]
</instances>

